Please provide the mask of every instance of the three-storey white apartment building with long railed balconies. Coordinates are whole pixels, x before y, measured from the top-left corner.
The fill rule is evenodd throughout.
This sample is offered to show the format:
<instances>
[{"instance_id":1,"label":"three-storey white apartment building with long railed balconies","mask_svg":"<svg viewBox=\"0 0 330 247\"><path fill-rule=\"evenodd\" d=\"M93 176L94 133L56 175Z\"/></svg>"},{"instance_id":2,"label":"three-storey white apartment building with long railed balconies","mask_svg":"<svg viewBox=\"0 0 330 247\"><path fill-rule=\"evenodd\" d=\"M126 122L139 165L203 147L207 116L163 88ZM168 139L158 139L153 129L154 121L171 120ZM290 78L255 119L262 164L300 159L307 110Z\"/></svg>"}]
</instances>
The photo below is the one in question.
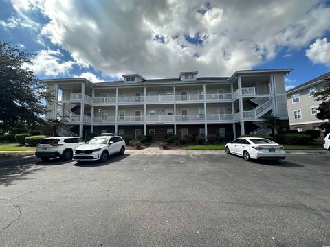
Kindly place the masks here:
<instances>
[{"instance_id":1,"label":"three-storey white apartment building with long railed balconies","mask_svg":"<svg viewBox=\"0 0 330 247\"><path fill-rule=\"evenodd\" d=\"M285 75L292 69L236 71L231 77L146 79L122 75L121 81L92 83L85 78L43 80L54 93L47 119L62 119L58 135L88 137L115 132L156 141L166 135L269 134L265 114L278 115L289 128Z\"/></svg>"}]
</instances>

